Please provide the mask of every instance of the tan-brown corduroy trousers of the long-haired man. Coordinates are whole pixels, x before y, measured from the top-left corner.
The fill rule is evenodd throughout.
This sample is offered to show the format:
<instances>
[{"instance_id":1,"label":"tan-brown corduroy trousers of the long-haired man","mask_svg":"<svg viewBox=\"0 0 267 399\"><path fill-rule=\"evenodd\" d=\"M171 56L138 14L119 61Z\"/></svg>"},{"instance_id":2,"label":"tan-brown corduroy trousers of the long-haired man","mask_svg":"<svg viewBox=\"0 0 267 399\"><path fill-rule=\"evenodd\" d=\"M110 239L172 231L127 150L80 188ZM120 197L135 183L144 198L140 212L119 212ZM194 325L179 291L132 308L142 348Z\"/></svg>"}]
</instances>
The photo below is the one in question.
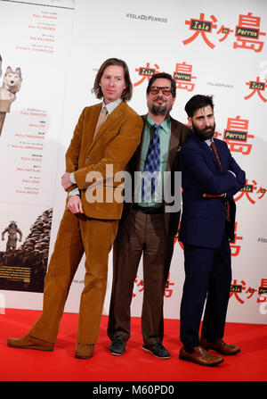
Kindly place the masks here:
<instances>
[{"instance_id":1,"label":"tan-brown corduroy trousers of the long-haired man","mask_svg":"<svg viewBox=\"0 0 267 399\"><path fill-rule=\"evenodd\" d=\"M109 251L117 235L118 220L97 220L65 211L44 278L41 317L29 335L54 343L58 335L69 287L85 253L85 287L80 299L77 343L95 344L106 294Z\"/></svg>"}]
</instances>

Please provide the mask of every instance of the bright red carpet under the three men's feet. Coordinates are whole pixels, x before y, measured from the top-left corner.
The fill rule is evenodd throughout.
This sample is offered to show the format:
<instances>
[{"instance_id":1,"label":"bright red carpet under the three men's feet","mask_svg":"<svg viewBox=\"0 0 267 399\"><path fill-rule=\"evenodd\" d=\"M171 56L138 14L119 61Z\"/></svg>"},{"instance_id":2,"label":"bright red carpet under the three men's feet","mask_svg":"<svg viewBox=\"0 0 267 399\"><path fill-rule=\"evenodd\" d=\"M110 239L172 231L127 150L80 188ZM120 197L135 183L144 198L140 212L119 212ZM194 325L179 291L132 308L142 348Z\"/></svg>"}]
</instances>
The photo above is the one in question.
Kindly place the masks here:
<instances>
[{"instance_id":1,"label":"bright red carpet under the three men's feet","mask_svg":"<svg viewBox=\"0 0 267 399\"><path fill-rule=\"evenodd\" d=\"M6 345L7 337L21 337L40 312L5 310L0 314L1 381L266 381L267 326L229 323L225 340L240 345L241 353L224 356L215 368L179 360L179 320L166 320L164 345L170 360L159 360L142 350L141 322L132 320L132 337L124 356L108 352L108 317L103 316L99 342L93 358L74 357L77 314L65 313L55 349L51 353L14 349Z\"/></svg>"}]
</instances>

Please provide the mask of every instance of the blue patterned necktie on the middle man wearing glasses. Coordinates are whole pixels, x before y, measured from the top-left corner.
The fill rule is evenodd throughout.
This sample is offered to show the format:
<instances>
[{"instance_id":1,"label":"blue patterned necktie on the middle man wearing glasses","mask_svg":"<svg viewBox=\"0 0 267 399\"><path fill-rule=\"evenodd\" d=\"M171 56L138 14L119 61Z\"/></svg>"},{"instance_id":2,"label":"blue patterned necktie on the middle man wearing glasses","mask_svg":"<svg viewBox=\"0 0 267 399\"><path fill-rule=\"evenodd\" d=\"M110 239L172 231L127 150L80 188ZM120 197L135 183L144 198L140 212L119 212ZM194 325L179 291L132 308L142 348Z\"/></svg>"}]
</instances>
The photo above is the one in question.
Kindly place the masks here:
<instances>
[{"instance_id":1,"label":"blue patterned necktie on the middle man wearing glasses","mask_svg":"<svg viewBox=\"0 0 267 399\"><path fill-rule=\"evenodd\" d=\"M158 184L158 171L160 162L160 145L158 130L161 129L160 125L153 125L154 135L150 141L148 154L144 166L144 173L142 178L142 201L148 203L151 196L156 190Z\"/></svg>"}]
</instances>

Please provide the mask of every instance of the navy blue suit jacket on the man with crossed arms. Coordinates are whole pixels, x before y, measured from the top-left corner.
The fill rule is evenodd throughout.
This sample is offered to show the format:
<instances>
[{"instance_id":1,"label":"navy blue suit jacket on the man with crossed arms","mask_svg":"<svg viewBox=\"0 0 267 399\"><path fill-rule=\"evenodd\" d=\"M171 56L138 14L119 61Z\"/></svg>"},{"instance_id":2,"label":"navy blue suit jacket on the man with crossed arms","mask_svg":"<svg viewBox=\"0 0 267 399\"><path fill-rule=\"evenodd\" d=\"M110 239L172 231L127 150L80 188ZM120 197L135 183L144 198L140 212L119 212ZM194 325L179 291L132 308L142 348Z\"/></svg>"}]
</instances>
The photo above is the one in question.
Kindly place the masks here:
<instances>
[{"instance_id":1,"label":"navy blue suit jacket on the man with crossed arms","mask_svg":"<svg viewBox=\"0 0 267 399\"><path fill-rule=\"evenodd\" d=\"M212 149L192 134L180 152L182 170L182 220L179 239L183 244L216 248L222 244L225 228L234 239L236 205L233 199L246 185L246 175L223 140L214 138L223 171ZM231 173L231 171L234 173ZM204 198L203 194L227 194L231 223L226 223L225 198Z\"/></svg>"}]
</instances>

